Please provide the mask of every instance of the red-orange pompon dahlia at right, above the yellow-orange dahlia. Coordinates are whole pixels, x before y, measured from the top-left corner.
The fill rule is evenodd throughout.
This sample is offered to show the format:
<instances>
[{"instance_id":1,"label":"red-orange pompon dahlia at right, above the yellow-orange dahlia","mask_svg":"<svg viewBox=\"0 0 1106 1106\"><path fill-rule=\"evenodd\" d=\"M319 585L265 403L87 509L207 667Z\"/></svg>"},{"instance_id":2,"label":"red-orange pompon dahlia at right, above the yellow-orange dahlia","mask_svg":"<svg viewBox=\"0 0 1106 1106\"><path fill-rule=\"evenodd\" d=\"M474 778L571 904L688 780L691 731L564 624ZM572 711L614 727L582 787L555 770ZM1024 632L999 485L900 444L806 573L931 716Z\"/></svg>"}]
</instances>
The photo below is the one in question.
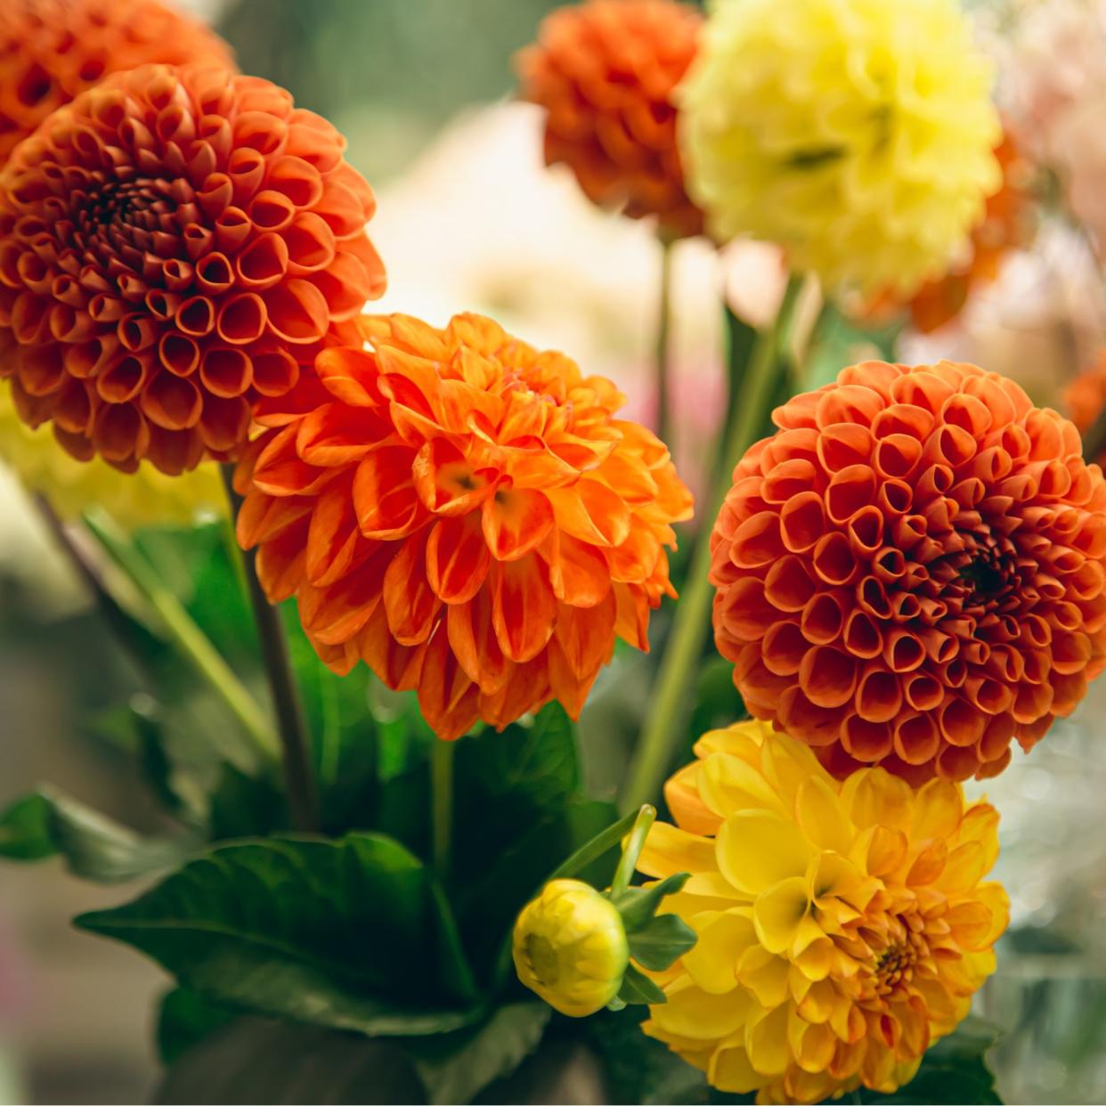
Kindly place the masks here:
<instances>
[{"instance_id":1,"label":"red-orange pompon dahlia at right, above the yellow-orange dahlia","mask_svg":"<svg viewBox=\"0 0 1106 1106\"><path fill-rule=\"evenodd\" d=\"M854 365L773 418L711 536L749 710L837 775L1000 772L1106 662L1106 483L1078 431L950 362Z\"/></svg>"}]
</instances>

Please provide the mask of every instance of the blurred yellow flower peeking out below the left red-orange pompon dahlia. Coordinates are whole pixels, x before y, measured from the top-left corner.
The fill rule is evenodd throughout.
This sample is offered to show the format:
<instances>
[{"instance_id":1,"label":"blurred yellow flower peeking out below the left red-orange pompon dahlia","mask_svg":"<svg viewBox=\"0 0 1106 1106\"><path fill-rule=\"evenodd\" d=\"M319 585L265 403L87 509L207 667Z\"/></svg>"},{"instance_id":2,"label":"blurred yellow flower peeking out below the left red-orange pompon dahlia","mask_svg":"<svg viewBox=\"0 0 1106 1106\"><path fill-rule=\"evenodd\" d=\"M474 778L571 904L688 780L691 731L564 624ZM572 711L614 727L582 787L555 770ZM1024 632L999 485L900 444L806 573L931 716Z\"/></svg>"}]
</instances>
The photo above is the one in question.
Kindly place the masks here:
<instances>
[{"instance_id":1,"label":"blurred yellow flower peeking out below the left red-orange pompon dahlia","mask_svg":"<svg viewBox=\"0 0 1106 1106\"><path fill-rule=\"evenodd\" d=\"M94 457L79 461L54 440L49 427L32 430L15 414L11 389L0 387L0 461L28 491L40 492L65 520L86 508L104 508L128 530L188 524L199 514L221 514L226 493L213 463L179 477L143 463L134 474Z\"/></svg>"}]
</instances>

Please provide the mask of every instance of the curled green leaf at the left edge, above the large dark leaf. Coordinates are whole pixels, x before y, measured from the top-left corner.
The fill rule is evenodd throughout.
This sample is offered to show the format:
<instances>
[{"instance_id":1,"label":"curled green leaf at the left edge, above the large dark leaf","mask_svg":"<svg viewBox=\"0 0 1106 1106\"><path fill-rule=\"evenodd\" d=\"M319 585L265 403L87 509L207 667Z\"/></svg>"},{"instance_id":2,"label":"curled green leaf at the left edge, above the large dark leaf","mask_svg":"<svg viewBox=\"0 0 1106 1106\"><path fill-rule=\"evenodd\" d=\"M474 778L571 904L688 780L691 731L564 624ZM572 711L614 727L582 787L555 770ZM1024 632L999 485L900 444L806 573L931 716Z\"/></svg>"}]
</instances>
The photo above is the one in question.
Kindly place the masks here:
<instances>
[{"instance_id":1,"label":"curled green leaf at the left edge, above the large dark leaf","mask_svg":"<svg viewBox=\"0 0 1106 1106\"><path fill-rule=\"evenodd\" d=\"M0 815L0 855L38 860L61 855L75 876L113 884L171 868L196 838L144 837L54 787L27 795Z\"/></svg>"}]
</instances>

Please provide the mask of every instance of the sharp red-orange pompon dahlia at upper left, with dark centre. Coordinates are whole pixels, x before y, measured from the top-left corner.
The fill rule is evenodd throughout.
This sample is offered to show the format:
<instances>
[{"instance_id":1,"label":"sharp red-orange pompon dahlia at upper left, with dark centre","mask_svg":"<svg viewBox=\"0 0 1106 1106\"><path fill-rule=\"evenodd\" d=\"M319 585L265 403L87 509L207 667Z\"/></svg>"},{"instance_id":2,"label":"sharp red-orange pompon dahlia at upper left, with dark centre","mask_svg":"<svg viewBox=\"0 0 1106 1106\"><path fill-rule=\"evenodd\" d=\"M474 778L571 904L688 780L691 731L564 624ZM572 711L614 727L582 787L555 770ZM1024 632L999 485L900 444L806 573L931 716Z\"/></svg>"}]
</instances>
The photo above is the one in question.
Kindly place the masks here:
<instances>
[{"instance_id":1,"label":"sharp red-orange pompon dahlia at upper left, with dark centre","mask_svg":"<svg viewBox=\"0 0 1106 1106\"><path fill-rule=\"evenodd\" d=\"M145 65L59 108L0 173L0 375L75 457L176 473L384 290L368 185L282 88Z\"/></svg>"}]
</instances>

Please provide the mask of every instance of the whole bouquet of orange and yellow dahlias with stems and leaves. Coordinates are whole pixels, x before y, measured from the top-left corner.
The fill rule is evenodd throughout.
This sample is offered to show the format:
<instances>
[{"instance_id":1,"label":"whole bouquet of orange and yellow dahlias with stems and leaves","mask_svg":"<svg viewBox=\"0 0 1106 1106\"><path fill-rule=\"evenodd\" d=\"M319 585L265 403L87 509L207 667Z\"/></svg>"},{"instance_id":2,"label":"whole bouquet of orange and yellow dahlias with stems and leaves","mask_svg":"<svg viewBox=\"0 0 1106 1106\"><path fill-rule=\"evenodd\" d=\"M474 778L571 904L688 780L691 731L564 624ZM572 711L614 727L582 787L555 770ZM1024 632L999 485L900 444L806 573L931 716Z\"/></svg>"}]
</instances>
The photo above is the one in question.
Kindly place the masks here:
<instances>
[{"instance_id":1,"label":"whole bouquet of orange and yellow dahlias with stems and leaves","mask_svg":"<svg viewBox=\"0 0 1106 1106\"><path fill-rule=\"evenodd\" d=\"M563 1100L583 1064L575 1100L999 1102L963 784L1106 662L1106 426L895 361L1037 202L953 0L583 0L518 55L547 163L656 229L656 434L463 304L372 314L343 137L202 28L17 0L0 41L0 451L164 813L43 785L0 855L135 884L75 924L171 980L158 1100ZM785 290L719 309L696 503L697 236L778 244Z\"/></svg>"}]
</instances>

